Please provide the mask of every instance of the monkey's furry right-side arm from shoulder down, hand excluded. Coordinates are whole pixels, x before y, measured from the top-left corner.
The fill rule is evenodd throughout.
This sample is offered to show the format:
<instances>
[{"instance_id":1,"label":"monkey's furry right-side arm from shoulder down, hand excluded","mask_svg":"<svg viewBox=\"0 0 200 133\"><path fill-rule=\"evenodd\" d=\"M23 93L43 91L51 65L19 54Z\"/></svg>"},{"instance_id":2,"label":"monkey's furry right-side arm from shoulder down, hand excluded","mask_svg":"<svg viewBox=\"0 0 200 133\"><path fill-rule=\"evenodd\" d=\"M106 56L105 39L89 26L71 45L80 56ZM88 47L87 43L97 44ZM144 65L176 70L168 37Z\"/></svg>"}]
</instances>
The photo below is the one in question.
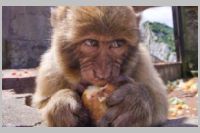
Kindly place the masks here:
<instances>
[{"instance_id":1,"label":"monkey's furry right-side arm from shoulder down, hand excluded","mask_svg":"<svg viewBox=\"0 0 200 133\"><path fill-rule=\"evenodd\" d=\"M142 83L151 93L153 98L153 125L163 123L167 119L168 102L166 87L158 72L153 66L148 50L144 45L139 47L139 62L135 68L132 78Z\"/></svg>"}]
</instances>

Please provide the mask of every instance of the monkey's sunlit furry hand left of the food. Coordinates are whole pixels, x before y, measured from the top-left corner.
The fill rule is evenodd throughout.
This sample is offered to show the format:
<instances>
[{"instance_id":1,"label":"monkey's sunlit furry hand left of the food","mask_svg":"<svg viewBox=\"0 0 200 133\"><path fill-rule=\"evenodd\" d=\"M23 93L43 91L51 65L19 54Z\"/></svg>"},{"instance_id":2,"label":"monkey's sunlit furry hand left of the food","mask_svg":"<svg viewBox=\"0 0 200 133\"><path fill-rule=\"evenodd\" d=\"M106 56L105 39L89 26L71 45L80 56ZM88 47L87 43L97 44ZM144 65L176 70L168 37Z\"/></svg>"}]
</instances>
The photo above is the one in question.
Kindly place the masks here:
<instances>
[{"instance_id":1,"label":"monkey's sunlit furry hand left of the food","mask_svg":"<svg viewBox=\"0 0 200 133\"><path fill-rule=\"evenodd\" d=\"M80 97L70 89L56 92L49 99L42 113L48 126L85 126L89 120Z\"/></svg>"}]
</instances>

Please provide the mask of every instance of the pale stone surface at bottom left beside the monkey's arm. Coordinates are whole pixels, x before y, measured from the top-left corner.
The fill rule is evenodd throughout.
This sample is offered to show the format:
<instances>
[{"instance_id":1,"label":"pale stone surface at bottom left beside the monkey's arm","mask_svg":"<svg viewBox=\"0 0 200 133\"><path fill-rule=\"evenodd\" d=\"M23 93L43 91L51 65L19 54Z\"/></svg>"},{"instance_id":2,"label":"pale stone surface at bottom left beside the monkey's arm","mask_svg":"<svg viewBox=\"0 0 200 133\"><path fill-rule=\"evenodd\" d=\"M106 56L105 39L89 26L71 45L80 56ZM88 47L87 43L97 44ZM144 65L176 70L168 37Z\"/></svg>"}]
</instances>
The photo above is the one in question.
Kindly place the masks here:
<instances>
[{"instance_id":1,"label":"pale stone surface at bottom left beside the monkey's arm","mask_svg":"<svg viewBox=\"0 0 200 133\"><path fill-rule=\"evenodd\" d=\"M43 126L38 111L24 103L28 95L31 94L15 94L12 90L2 91L3 127Z\"/></svg>"}]
</instances>

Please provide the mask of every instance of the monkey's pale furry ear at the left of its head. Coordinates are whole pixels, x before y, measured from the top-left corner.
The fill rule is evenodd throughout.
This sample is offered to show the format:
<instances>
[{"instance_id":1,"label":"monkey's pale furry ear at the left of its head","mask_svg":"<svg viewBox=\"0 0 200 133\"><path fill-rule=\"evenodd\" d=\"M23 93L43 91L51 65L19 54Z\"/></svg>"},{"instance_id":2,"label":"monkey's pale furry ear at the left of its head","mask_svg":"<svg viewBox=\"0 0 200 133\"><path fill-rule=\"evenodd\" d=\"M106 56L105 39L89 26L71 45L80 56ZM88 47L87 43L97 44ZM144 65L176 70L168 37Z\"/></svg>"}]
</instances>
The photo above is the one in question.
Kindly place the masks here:
<instances>
[{"instance_id":1,"label":"monkey's pale furry ear at the left of its head","mask_svg":"<svg viewBox=\"0 0 200 133\"><path fill-rule=\"evenodd\" d=\"M64 18L66 18L67 10L69 7L66 6L59 6L59 7L52 7L51 8L51 26L55 27L61 22Z\"/></svg>"}]
</instances>

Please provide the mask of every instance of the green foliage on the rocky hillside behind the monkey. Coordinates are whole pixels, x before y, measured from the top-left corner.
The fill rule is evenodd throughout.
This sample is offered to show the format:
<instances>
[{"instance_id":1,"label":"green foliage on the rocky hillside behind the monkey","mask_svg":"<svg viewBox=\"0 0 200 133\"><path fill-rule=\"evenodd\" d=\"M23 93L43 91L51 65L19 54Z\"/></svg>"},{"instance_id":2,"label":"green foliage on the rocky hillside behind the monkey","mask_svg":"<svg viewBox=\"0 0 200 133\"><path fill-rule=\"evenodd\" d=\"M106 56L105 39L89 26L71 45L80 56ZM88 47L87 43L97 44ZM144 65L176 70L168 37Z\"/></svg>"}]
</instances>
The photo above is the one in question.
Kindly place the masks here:
<instances>
[{"instance_id":1,"label":"green foliage on the rocky hillside behind the monkey","mask_svg":"<svg viewBox=\"0 0 200 133\"><path fill-rule=\"evenodd\" d=\"M174 31L173 28L159 23L146 21L144 27L149 25L150 30L157 36L156 42L164 42L172 52L175 52Z\"/></svg>"}]
</instances>

